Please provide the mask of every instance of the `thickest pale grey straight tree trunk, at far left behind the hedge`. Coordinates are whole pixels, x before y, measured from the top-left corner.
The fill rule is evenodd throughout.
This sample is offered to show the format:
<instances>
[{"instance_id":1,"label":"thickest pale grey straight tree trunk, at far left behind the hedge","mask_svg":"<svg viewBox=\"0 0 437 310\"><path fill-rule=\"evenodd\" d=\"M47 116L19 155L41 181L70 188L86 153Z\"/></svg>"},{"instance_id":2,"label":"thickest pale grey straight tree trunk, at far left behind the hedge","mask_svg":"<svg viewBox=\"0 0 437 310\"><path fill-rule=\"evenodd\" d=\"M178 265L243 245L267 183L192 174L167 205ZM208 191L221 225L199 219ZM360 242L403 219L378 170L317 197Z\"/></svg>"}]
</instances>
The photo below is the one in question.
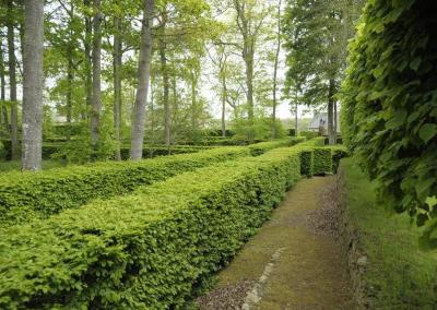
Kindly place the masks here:
<instances>
[{"instance_id":1,"label":"thickest pale grey straight tree trunk, at far left behind the hedge","mask_svg":"<svg viewBox=\"0 0 437 310\"><path fill-rule=\"evenodd\" d=\"M23 170L42 169L44 0L24 1Z\"/></svg>"}]
</instances>

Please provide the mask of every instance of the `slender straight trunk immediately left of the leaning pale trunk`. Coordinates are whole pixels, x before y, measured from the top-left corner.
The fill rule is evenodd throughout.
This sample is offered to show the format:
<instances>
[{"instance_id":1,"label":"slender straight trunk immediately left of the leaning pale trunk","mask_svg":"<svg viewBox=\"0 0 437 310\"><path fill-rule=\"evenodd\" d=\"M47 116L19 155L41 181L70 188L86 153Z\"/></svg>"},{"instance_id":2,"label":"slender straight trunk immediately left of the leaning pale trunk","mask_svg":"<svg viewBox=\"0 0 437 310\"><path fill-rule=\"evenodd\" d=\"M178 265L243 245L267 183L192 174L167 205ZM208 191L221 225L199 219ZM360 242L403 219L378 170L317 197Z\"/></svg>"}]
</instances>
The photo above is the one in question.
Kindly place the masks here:
<instances>
[{"instance_id":1,"label":"slender straight trunk immediately left of the leaning pale trunk","mask_svg":"<svg viewBox=\"0 0 437 310\"><path fill-rule=\"evenodd\" d=\"M121 126L121 58L122 58L122 41L121 41L121 21L115 17L116 33L114 35L114 131L117 140L117 148L115 159L120 160L120 126Z\"/></svg>"}]
</instances>

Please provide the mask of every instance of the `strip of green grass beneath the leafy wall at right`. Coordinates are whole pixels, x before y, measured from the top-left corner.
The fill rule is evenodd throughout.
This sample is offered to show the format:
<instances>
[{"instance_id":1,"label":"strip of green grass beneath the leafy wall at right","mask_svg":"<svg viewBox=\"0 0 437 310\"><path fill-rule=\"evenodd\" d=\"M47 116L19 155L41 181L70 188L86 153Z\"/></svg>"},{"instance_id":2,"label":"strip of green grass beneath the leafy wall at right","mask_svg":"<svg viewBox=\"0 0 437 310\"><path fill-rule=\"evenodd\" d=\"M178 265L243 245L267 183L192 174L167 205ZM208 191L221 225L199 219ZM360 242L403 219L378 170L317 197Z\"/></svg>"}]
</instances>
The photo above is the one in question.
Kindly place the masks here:
<instances>
[{"instance_id":1,"label":"strip of green grass beneath the leafy wall at right","mask_svg":"<svg viewBox=\"0 0 437 310\"><path fill-rule=\"evenodd\" d=\"M437 309L437 251L418 249L421 229L406 215L377 203L375 184L354 164L342 160L349 190L349 217L367 255L364 276L370 309Z\"/></svg>"}]
</instances>

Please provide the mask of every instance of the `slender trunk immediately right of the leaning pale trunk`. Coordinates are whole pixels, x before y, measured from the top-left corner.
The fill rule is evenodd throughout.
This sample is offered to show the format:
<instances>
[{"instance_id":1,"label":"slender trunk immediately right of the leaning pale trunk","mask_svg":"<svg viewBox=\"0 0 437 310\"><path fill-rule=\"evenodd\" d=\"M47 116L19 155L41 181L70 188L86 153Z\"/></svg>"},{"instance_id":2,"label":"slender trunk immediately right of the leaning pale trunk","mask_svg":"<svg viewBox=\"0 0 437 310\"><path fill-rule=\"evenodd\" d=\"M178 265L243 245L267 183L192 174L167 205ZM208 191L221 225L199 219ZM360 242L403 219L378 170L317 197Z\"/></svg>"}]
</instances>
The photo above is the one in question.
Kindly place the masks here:
<instances>
[{"instance_id":1,"label":"slender trunk immediately right of the leaning pale trunk","mask_svg":"<svg viewBox=\"0 0 437 310\"><path fill-rule=\"evenodd\" d=\"M163 26L165 27L165 26ZM163 37L160 39L160 59L161 59L161 71L163 74L163 104L164 104L164 124L165 124L165 145L170 146L172 143L172 111L169 105L169 78L167 68L166 57L166 44L165 44L165 29L163 29Z\"/></svg>"}]
</instances>

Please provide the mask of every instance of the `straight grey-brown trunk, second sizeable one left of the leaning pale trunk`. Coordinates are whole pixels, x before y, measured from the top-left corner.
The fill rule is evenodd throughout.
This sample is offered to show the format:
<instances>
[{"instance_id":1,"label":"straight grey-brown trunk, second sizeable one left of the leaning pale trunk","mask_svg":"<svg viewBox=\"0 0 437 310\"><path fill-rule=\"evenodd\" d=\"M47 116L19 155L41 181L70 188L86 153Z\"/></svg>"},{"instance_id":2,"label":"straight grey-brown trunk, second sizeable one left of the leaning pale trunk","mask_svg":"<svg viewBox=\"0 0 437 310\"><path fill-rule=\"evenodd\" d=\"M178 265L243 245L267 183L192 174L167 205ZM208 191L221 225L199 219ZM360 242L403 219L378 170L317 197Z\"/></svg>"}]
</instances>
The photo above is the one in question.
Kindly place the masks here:
<instances>
[{"instance_id":1,"label":"straight grey-brown trunk, second sizeable one left of the leaning pale trunk","mask_svg":"<svg viewBox=\"0 0 437 310\"><path fill-rule=\"evenodd\" d=\"M93 148L92 159L95 159L95 152L98 147L99 126L101 126L101 57L102 57L102 16L101 0L93 2L95 15L93 19L93 100L91 112L91 146Z\"/></svg>"}]
</instances>

